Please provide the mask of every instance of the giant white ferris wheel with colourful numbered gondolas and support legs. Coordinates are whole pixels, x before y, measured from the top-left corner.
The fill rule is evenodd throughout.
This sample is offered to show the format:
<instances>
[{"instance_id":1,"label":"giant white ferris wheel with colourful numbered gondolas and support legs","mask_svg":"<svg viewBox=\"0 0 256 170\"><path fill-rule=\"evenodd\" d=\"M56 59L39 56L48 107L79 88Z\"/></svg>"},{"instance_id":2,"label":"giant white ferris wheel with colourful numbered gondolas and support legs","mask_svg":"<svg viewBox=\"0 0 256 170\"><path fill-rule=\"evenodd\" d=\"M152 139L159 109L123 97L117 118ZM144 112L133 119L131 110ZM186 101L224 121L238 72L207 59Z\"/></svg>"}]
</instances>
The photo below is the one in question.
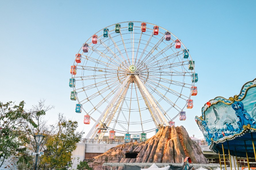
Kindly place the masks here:
<instances>
[{"instance_id":1,"label":"giant white ferris wheel with colourful numbered gondolas and support legs","mask_svg":"<svg viewBox=\"0 0 256 170\"><path fill-rule=\"evenodd\" d=\"M107 130L148 133L178 116L185 120L197 94L194 68L182 41L160 26L132 21L96 32L70 69L76 112L85 124L95 122L86 138L103 138Z\"/></svg>"}]
</instances>

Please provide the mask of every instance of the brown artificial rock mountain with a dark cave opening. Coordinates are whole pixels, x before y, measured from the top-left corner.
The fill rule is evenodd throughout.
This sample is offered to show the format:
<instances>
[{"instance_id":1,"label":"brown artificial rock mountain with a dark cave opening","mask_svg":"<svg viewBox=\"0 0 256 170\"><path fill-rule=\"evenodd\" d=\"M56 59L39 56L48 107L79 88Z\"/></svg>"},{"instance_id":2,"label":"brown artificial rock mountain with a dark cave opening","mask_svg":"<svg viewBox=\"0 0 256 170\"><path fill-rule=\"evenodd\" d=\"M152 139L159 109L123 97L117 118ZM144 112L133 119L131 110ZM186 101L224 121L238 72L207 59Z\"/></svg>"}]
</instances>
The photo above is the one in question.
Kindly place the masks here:
<instances>
[{"instance_id":1,"label":"brown artificial rock mountain with a dark cave opening","mask_svg":"<svg viewBox=\"0 0 256 170\"><path fill-rule=\"evenodd\" d=\"M127 158L136 157L136 158ZM108 163L181 163L182 157L190 157L193 163L208 163L201 148L192 141L183 126L165 126L143 143L126 143L88 161L94 170L110 169ZM112 167L122 170L123 167Z\"/></svg>"}]
</instances>

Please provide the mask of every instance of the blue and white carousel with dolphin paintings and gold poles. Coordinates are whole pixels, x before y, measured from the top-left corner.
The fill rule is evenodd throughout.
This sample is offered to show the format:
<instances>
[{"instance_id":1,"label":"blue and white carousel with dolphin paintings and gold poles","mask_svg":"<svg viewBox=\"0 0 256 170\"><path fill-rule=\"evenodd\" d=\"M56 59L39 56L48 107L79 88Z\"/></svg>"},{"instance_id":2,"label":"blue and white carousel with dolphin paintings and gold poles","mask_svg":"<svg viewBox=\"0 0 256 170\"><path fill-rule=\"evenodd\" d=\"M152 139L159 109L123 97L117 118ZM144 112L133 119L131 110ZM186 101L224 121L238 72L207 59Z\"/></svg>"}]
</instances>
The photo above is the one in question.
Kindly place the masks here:
<instances>
[{"instance_id":1,"label":"blue and white carousel with dolphin paintings and gold poles","mask_svg":"<svg viewBox=\"0 0 256 170\"><path fill-rule=\"evenodd\" d=\"M195 121L209 148L219 154L220 162L223 155L225 169L226 159L231 169L231 161L238 169L238 157L247 158L250 169L249 158L255 158L256 162L256 79L245 83L234 97L218 96L205 103L202 115L196 116Z\"/></svg>"}]
</instances>

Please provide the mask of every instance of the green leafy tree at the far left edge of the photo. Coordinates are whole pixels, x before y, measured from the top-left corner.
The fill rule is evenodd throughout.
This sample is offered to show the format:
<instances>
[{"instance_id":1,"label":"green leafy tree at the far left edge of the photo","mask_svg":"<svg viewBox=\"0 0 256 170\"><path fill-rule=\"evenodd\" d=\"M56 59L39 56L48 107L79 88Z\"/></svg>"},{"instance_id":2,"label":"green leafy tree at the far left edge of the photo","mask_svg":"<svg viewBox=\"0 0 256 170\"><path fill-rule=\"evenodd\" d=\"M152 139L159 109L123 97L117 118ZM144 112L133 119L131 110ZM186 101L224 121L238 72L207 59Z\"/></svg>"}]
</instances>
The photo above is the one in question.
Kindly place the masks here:
<instances>
[{"instance_id":1,"label":"green leafy tree at the far left edge of the photo","mask_svg":"<svg viewBox=\"0 0 256 170\"><path fill-rule=\"evenodd\" d=\"M31 114L24 111L24 104L24 101L19 105L14 105L14 102L0 102L0 167L11 155L26 150L26 147L21 147L28 142L27 129L23 128L23 124L29 122L34 128L37 127L30 118Z\"/></svg>"}]
</instances>

